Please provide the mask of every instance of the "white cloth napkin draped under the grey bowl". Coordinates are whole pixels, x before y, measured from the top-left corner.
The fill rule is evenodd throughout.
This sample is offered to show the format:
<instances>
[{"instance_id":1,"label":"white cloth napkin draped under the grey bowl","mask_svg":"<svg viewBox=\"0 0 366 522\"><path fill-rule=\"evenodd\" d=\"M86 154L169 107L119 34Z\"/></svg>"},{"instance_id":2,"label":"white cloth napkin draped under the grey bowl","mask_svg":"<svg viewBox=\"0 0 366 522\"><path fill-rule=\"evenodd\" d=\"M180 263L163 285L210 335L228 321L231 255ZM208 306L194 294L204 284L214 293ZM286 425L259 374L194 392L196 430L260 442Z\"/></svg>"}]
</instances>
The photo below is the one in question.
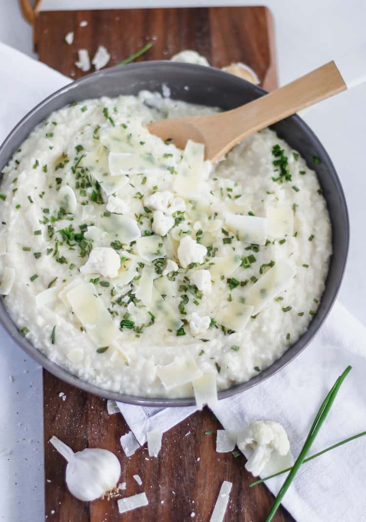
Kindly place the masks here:
<instances>
[{"instance_id":1,"label":"white cloth napkin draped under the grey bowl","mask_svg":"<svg viewBox=\"0 0 366 522\"><path fill-rule=\"evenodd\" d=\"M70 79L0 43L0 141L36 103ZM254 419L283 424L298 455L310 425L336 377L351 364L330 415L310 453L366 429L364 386L366 329L336 303L326 324L299 357L248 392L225 399L214 413L225 429L237 430ZM119 404L131 428L130 442L146 441L147 432L163 432L188 417L194 407L142 408ZM136 438L135 438L136 437ZM164 438L163 438L164 443ZM304 464L284 505L298 522L353 522L364 518L366 438L353 441ZM283 478L267 483L276 493Z\"/></svg>"}]
</instances>

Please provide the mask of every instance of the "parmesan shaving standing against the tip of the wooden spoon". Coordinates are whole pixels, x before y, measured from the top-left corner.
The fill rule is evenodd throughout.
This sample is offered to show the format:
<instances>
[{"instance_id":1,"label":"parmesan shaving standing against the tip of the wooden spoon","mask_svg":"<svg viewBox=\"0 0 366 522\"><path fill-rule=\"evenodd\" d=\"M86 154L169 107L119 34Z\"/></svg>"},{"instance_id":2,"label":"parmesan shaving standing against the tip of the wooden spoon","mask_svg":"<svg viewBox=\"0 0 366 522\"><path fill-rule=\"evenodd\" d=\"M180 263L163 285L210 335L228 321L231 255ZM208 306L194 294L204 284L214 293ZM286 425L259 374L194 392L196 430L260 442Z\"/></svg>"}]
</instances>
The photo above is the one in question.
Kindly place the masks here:
<instances>
[{"instance_id":1,"label":"parmesan shaving standing against the tip of the wooden spoon","mask_svg":"<svg viewBox=\"0 0 366 522\"><path fill-rule=\"evenodd\" d=\"M190 196L198 190L204 170L203 162L204 145L189 139L173 183L177 194Z\"/></svg>"}]
</instances>

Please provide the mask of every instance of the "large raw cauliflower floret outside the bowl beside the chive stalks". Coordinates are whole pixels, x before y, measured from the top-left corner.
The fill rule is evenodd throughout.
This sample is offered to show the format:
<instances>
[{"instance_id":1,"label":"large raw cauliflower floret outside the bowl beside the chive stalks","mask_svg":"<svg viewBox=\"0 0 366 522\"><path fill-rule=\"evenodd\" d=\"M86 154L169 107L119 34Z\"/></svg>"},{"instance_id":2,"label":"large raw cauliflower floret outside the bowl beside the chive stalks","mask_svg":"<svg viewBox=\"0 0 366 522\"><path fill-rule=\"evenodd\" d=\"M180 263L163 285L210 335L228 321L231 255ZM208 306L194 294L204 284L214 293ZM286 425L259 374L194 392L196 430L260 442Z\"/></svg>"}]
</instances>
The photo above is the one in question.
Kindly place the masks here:
<instances>
[{"instance_id":1,"label":"large raw cauliflower floret outside the bowl beside the chive stalks","mask_svg":"<svg viewBox=\"0 0 366 522\"><path fill-rule=\"evenodd\" d=\"M282 471L294 464L284 428L274 421L253 421L238 434L238 448L248 458L246 469L254 477Z\"/></svg>"}]
</instances>

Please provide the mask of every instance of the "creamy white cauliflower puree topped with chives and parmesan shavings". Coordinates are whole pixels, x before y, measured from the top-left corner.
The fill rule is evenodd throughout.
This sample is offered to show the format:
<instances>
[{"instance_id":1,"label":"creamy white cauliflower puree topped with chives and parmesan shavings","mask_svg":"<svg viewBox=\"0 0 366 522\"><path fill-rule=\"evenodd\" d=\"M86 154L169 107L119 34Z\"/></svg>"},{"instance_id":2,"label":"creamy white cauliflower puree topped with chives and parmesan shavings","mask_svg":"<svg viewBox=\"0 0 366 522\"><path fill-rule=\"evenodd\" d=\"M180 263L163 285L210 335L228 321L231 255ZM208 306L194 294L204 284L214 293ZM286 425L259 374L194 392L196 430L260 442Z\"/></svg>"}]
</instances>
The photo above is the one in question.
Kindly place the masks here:
<instances>
[{"instance_id":1,"label":"creamy white cauliflower puree topped with chives and parmesan shavings","mask_svg":"<svg viewBox=\"0 0 366 522\"><path fill-rule=\"evenodd\" d=\"M316 313L331 225L298 153L265 129L212 168L203 146L183 153L145 128L212 111L149 92L87 100L51 114L3 171L5 305L86 381L178 397L212 374L224 389Z\"/></svg>"}]
</instances>

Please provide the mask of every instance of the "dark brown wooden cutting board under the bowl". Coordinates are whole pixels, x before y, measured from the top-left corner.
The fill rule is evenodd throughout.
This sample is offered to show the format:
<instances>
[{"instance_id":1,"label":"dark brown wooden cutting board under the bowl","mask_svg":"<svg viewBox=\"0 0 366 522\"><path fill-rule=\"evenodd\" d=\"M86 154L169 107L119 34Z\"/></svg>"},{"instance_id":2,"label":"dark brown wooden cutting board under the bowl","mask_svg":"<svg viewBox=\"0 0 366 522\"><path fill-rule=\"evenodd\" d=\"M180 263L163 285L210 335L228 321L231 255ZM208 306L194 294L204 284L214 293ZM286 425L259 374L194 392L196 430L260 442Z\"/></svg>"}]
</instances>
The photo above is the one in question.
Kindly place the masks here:
<instances>
[{"instance_id":1,"label":"dark brown wooden cutting board under the bowl","mask_svg":"<svg viewBox=\"0 0 366 522\"><path fill-rule=\"evenodd\" d=\"M80 27L83 20L88 25ZM72 45L64 41L69 31L75 33ZM105 45L112 56L111 66L151 41L153 47L140 60L168 59L181 50L194 49L216 67L246 63L265 89L277 86L272 19L265 7L43 11L36 17L35 41L40 60L72 78L85 74L74 64L78 49L88 49L92 57L99 45ZM235 458L231 453L215 452L215 433L221 426L208 409L165 433L160 455L149 460L146 448L130 458L124 455L119 438L128 426L119 414L108 416L105 400L80 392L46 371L43 394L47 519L206 522L223 480L233 482L226 522L265 519L273 495L263 484L248 489L253 478L245 470L242 455ZM65 461L48 444L52 435L74 450L112 450L122 464L121 480L127 482L124 494L145 491L149 506L119 515L116 501L89 504L76 500L65 486ZM140 475L141 486L133 474ZM274 520L293 519L279 509Z\"/></svg>"}]
</instances>

